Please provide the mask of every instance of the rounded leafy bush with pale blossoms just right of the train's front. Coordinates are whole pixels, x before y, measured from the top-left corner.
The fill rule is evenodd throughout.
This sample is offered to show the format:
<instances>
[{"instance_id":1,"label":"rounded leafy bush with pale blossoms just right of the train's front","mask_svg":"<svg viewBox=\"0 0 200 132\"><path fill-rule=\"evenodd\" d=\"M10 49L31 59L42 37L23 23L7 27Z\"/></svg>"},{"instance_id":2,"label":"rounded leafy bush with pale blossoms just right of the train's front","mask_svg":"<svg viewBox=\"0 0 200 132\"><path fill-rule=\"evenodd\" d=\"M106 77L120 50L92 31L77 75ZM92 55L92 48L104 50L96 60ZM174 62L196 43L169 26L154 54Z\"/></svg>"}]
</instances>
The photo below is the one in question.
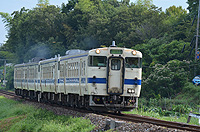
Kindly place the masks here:
<instances>
[{"instance_id":1,"label":"rounded leafy bush with pale blossoms just right of the train's front","mask_svg":"<svg viewBox=\"0 0 200 132\"><path fill-rule=\"evenodd\" d=\"M174 97L187 82L189 65L186 61L171 60L166 65L156 64L151 74L144 79L142 95Z\"/></svg>"}]
</instances>

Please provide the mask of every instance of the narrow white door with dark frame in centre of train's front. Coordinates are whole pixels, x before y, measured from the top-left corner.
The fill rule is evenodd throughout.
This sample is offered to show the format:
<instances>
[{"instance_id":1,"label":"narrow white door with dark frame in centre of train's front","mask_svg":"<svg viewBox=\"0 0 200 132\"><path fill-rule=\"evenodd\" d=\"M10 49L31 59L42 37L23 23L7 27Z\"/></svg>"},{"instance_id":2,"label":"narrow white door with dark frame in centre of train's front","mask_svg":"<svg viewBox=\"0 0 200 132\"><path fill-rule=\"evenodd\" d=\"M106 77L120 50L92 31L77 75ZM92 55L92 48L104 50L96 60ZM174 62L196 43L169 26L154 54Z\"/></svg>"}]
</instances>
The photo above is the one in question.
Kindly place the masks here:
<instances>
[{"instance_id":1,"label":"narrow white door with dark frame in centre of train's front","mask_svg":"<svg viewBox=\"0 0 200 132\"><path fill-rule=\"evenodd\" d=\"M108 58L107 93L123 94L124 88L124 59L122 57Z\"/></svg>"}]
</instances>

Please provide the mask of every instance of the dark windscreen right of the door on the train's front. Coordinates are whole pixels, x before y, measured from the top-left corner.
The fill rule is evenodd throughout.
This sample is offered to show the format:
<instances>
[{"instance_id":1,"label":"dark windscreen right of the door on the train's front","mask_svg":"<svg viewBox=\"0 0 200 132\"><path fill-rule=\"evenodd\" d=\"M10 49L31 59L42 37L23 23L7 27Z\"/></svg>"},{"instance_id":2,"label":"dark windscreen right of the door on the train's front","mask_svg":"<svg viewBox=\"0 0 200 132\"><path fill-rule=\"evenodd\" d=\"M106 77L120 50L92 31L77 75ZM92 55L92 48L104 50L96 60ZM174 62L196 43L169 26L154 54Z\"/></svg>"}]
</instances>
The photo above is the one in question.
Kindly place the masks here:
<instances>
[{"instance_id":1,"label":"dark windscreen right of the door on the train's front","mask_svg":"<svg viewBox=\"0 0 200 132\"><path fill-rule=\"evenodd\" d=\"M141 58L126 57L125 63L126 63L126 68L141 68L142 67Z\"/></svg>"}]
</instances>

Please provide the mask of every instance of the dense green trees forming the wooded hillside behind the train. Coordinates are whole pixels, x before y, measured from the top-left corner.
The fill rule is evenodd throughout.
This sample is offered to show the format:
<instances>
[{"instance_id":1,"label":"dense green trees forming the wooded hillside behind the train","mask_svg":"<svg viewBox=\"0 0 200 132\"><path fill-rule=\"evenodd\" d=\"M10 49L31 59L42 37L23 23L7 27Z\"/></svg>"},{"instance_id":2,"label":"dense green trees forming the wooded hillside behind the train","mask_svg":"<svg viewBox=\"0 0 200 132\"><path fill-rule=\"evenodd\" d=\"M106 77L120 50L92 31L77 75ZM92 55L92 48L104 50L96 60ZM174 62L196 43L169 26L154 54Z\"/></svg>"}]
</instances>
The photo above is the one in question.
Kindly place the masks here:
<instances>
[{"instance_id":1,"label":"dense green trees forming the wooded hillside behind the train","mask_svg":"<svg viewBox=\"0 0 200 132\"><path fill-rule=\"evenodd\" d=\"M176 6L162 11L152 0L69 0L61 7L39 0L33 9L0 12L8 28L0 58L22 63L64 55L68 49L109 46L115 40L143 53L142 96L172 97L193 77L191 16L197 13L198 0L187 3L189 13Z\"/></svg>"}]
</instances>

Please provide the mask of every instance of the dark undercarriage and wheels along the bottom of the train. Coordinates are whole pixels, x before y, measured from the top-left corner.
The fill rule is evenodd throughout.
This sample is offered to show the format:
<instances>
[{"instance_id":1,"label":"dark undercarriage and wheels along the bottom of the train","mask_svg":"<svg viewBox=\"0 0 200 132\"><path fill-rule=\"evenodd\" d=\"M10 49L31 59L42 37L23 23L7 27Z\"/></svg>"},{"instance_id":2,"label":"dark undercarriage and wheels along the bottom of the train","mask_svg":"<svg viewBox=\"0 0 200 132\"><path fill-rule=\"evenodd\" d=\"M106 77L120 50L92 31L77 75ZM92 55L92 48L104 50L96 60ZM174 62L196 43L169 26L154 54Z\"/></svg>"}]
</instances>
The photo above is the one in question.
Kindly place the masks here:
<instances>
[{"instance_id":1,"label":"dark undercarriage and wheels along the bottom of the train","mask_svg":"<svg viewBox=\"0 0 200 132\"><path fill-rule=\"evenodd\" d=\"M138 98L117 95L96 96L78 94L64 94L53 92L40 92L27 89L15 89L15 94L30 100L53 103L72 108L85 108L93 111L129 111L137 108Z\"/></svg>"}]
</instances>

